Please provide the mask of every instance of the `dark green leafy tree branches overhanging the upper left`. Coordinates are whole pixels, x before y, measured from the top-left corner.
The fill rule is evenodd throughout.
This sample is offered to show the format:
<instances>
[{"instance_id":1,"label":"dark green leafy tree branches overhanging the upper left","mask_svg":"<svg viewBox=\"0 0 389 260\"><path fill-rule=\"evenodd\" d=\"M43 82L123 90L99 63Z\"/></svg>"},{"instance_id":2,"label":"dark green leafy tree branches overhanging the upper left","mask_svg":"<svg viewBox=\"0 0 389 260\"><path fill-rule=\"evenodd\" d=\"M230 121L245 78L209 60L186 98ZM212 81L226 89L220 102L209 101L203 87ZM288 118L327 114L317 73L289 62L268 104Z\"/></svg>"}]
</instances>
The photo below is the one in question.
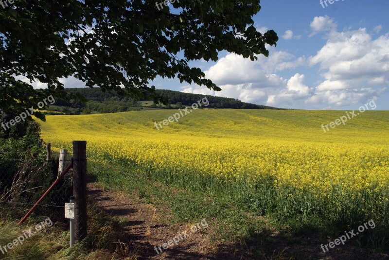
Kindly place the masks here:
<instances>
[{"instance_id":1,"label":"dark green leafy tree branches overhanging the upper left","mask_svg":"<svg viewBox=\"0 0 389 260\"><path fill-rule=\"evenodd\" d=\"M260 0L177 0L163 8L158 3L16 0L0 8L0 109L15 113L49 95L76 98L60 81L69 76L88 87L163 103L149 86L158 75L220 90L188 63L216 61L222 50L254 60L268 55L266 43L278 40L273 30L261 34L253 26ZM36 91L16 76L47 88Z\"/></svg>"}]
</instances>

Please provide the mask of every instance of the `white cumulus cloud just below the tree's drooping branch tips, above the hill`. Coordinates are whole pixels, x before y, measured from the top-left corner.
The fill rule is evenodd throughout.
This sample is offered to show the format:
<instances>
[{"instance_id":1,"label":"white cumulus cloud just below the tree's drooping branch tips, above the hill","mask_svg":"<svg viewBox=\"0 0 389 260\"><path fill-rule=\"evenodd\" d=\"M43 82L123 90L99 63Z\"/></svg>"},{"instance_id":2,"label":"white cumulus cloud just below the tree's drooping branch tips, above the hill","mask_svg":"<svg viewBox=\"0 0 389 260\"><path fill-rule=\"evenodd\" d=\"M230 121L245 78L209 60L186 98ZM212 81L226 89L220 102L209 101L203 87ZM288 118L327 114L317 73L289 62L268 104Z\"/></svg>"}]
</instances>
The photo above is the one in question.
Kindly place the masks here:
<instances>
[{"instance_id":1,"label":"white cumulus cloud just below the tree's drooping branch tips, above the hill","mask_svg":"<svg viewBox=\"0 0 389 260\"><path fill-rule=\"evenodd\" d=\"M222 91L210 91L205 87L185 86L183 92L208 94L222 97L237 98L243 102L264 104L268 93L287 86L287 80L277 74L277 71L293 69L305 61L304 57L275 51L269 57L258 56L257 61L245 59L233 53L217 61L205 71L205 76L222 88ZM297 86L297 85L296 85ZM302 89L290 89L302 91Z\"/></svg>"}]
</instances>

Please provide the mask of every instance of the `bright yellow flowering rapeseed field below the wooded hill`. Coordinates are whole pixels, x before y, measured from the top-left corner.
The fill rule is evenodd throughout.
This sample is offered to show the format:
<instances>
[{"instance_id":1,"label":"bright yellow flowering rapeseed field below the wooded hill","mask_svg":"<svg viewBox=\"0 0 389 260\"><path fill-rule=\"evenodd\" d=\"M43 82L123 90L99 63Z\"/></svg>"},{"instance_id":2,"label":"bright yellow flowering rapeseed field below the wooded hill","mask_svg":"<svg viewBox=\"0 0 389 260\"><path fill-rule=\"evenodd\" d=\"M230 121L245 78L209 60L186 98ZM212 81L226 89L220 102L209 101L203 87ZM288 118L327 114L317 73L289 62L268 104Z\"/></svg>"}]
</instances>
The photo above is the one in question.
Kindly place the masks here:
<instances>
[{"instance_id":1,"label":"bright yellow flowering rapeseed field below the wooded hill","mask_svg":"<svg viewBox=\"0 0 389 260\"><path fill-rule=\"evenodd\" d=\"M366 111L324 133L344 111L196 110L157 130L174 110L47 116L42 137L57 148L87 140L94 160L127 159L223 182L272 176L279 188L323 196L389 186L389 112ZM89 158L89 159L91 159Z\"/></svg>"}]
</instances>

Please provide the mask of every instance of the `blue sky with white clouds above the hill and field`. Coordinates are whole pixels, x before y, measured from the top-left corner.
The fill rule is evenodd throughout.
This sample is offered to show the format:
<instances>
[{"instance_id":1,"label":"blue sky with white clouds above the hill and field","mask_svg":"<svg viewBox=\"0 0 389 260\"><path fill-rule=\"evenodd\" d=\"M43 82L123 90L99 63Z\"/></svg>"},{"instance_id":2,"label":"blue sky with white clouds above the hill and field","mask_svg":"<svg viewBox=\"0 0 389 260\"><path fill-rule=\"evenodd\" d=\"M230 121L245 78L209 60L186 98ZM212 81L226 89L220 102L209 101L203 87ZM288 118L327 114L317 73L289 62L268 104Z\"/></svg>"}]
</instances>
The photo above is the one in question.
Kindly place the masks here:
<instances>
[{"instance_id":1,"label":"blue sky with white clouds above the hill and field","mask_svg":"<svg viewBox=\"0 0 389 260\"><path fill-rule=\"evenodd\" d=\"M222 91L178 79L157 78L150 86L296 109L357 109L374 100L377 110L388 110L389 1L323 0L323 5L262 0L254 25L280 37L277 47L268 46L268 58L251 61L220 52L217 62L190 63ZM71 77L62 82L84 87Z\"/></svg>"}]
</instances>

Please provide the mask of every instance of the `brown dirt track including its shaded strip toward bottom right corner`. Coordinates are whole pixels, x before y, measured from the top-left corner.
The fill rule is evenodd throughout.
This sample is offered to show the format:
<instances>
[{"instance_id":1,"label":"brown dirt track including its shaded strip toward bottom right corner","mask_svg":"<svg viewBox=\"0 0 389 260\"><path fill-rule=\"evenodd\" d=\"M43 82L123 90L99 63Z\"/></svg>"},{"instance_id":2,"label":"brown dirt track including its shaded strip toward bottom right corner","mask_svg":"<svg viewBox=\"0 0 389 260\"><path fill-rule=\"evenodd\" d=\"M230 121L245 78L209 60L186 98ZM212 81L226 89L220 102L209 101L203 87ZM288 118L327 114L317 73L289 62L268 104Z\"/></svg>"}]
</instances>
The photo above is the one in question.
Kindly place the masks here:
<instances>
[{"instance_id":1,"label":"brown dirt track including its shaded strip toward bottom right corner","mask_svg":"<svg viewBox=\"0 0 389 260\"><path fill-rule=\"evenodd\" d=\"M166 213L169 210L143 204L138 201L138 196L135 194L106 191L97 183L88 183L88 196L107 214L124 217L128 220L123 232L128 235L128 241L131 241L130 250L136 251L137 255L141 256L137 258L140 260L251 260L252 258L247 257L248 252L253 248L253 243L258 243L244 245L218 243L217 246L212 246L210 242L212 227L202 228L204 226L199 224L199 228L196 228L198 230L194 231L194 226L190 225L162 225L160 223L166 223L166 221L161 220L169 218L168 213ZM275 230L270 231L270 233L262 233L264 238L269 240L265 246L266 258L259 256L256 259L288 260L289 258L286 257L275 257L277 252L282 252L283 249L292 253L293 259L296 260L389 259L387 253L372 254L368 250L351 244L338 246L331 252L324 254L319 245L325 244L325 240L320 238L318 234L285 238L278 236L277 233ZM173 243L173 239L176 239L177 245ZM172 240L170 245L165 244L168 248L163 249L163 244L168 243L169 240ZM272 256L274 252L276 254Z\"/></svg>"}]
</instances>

